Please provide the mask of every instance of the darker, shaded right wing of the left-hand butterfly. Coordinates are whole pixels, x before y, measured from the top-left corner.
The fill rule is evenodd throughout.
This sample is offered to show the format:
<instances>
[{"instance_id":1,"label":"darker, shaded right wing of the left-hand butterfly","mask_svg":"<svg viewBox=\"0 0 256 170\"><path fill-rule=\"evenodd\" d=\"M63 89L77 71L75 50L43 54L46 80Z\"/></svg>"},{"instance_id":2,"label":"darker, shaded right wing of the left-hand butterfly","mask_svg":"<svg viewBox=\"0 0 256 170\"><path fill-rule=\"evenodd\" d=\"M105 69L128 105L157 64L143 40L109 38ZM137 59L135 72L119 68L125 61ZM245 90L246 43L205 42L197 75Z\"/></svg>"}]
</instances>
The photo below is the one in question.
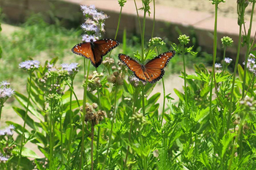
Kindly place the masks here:
<instances>
[{"instance_id":1,"label":"darker, shaded right wing of the left-hand butterfly","mask_svg":"<svg viewBox=\"0 0 256 170\"><path fill-rule=\"evenodd\" d=\"M99 39L96 42L93 42L93 53L94 53L94 61L95 67L98 67L102 63L102 57L107 55L113 48L119 45L114 39Z\"/></svg>"}]
</instances>

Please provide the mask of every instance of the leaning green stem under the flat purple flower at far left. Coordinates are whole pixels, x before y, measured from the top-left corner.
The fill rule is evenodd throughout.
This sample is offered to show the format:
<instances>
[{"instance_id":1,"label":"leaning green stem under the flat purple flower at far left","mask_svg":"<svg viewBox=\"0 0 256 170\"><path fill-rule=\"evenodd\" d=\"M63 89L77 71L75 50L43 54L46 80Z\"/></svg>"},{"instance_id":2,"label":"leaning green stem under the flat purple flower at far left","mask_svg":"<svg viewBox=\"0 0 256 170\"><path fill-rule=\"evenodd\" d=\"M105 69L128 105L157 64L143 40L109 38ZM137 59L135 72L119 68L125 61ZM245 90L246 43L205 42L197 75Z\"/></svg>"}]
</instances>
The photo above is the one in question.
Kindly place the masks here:
<instances>
[{"instance_id":1,"label":"leaning green stem under the flat purple flower at far left","mask_svg":"<svg viewBox=\"0 0 256 170\"><path fill-rule=\"evenodd\" d=\"M20 152L19 152L17 170L19 170L19 167L20 167L21 152L22 152L22 149L23 149L23 140L25 140L24 138L25 138L26 118L27 118L28 112L29 112L29 100L30 100L30 96L31 96L32 73L29 73L29 75L30 75L30 77L29 77L29 98L28 98L28 103L26 105L26 113L25 113L25 117L24 117L23 129L22 129L22 136L21 136L21 144L20 144Z\"/></svg>"}]
</instances>

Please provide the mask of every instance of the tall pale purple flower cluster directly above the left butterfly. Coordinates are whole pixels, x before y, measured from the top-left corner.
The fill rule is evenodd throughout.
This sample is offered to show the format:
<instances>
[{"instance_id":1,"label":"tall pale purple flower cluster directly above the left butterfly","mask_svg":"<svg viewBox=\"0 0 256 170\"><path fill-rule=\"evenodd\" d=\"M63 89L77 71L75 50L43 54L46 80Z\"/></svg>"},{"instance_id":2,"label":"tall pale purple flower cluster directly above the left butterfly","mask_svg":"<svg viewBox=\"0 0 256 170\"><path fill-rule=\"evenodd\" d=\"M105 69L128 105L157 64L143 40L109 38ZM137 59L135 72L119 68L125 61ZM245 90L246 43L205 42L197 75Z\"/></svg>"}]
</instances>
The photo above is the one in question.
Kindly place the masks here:
<instances>
[{"instance_id":1,"label":"tall pale purple flower cluster directly above the left butterfly","mask_svg":"<svg viewBox=\"0 0 256 170\"><path fill-rule=\"evenodd\" d=\"M97 41L101 33L104 32L105 20L108 18L103 12L98 12L94 5L86 6L81 5L81 10L83 11L83 15L86 16L85 23L81 25L81 28L86 32L82 36L83 42L91 42Z\"/></svg>"}]
</instances>

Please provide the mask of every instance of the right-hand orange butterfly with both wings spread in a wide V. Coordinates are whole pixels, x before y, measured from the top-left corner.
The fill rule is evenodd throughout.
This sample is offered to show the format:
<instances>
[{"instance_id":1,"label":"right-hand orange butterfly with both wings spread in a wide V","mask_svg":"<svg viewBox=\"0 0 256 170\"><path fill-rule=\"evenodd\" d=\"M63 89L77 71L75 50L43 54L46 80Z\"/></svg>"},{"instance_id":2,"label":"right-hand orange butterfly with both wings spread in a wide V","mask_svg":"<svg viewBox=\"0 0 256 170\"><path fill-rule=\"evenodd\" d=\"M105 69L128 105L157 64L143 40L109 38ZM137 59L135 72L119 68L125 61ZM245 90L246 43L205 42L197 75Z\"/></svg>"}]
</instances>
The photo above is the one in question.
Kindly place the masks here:
<instances>
[{"instance_id":1,"label":"right-hand orange butterfly with both wings spread in a wide V","mask_svg":"<svg viewBox=\"0 0 256 170\"><path fill-rule=\"evenodd\" d=\"M175 55L175 51L167 51L148 61L145 65L138 63L128 55L119 54L119 60L133 72L135 77L143 82L154 83L165 74L165 66Z\"/></svg>"}]
</instances>

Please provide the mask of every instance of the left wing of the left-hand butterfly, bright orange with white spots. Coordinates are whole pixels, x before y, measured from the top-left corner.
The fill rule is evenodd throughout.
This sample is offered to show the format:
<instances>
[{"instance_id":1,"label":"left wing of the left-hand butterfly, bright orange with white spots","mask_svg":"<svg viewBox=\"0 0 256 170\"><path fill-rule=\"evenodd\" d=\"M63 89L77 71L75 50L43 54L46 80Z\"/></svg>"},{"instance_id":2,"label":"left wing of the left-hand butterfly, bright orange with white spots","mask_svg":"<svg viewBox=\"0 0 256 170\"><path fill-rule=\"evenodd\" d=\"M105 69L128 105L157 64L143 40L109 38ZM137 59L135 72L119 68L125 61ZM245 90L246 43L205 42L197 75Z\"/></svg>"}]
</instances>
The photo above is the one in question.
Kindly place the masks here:
<instances>
[{"instance_id":1,"label":"left wing of the left-hand butterfly, bright orange with white spots","mask_svg":"<svg viewBox=\"0 0 256 170\"><path fill-rule=\"evenodd\" d=\"M94 53L91 50L91 42L82 42L78 45L75 45L72 48L72 52L77 55L82 55L85 58L89 58L91 60L92 65L95 66Z\"/></svg>"}]
</instances>

